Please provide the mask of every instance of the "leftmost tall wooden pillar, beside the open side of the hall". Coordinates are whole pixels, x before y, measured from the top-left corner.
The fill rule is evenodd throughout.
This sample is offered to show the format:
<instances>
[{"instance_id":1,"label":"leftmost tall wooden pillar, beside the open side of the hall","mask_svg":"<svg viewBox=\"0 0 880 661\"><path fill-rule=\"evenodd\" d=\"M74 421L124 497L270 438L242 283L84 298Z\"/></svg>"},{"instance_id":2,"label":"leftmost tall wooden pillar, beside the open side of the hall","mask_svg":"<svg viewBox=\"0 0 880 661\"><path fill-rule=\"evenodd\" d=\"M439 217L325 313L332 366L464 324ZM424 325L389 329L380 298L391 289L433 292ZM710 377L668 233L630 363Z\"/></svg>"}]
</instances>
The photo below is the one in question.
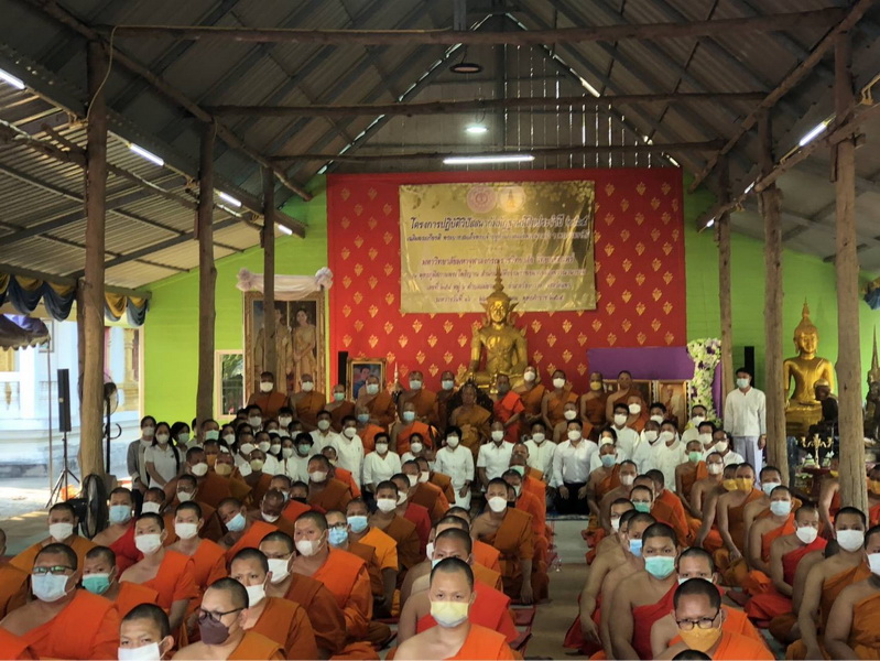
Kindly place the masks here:
<instances>
[{"instance_id":1,"label":"leftmost tall wooden pillar, beside the open side of the hall","mask_svg":"<svg viewBox=\"0 0 880 661\"><path fill-rule=\"evenodd\" d=\"M105 474L104 453L104 260L107 189L107 106L104 85L107 53L87 45L88 126L86 127L86 268L82 281L83 399L79 402L79 466L83 476Z\"/></svg>"}]
</instances>

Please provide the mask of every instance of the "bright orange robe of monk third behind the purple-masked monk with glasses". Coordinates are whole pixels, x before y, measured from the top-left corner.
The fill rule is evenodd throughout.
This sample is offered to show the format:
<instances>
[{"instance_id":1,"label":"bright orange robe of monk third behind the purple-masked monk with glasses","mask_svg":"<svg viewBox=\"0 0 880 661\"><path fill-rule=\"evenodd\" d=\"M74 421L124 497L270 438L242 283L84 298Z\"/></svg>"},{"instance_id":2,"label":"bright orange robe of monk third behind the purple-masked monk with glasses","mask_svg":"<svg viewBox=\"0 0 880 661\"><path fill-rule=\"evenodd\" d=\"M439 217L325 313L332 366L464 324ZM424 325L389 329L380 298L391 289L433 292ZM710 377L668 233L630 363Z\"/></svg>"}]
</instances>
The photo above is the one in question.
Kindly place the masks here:
<instances>
[{"instance_id":1,"label":"bright orange robe of monk third behind the purple-masked monk with glasses","mask_svg":"<svg viewBox=\"0 0 880 661\"><path fill-rule=\"evenodd\" d=\"M348 638L363 639L372 619L372 590L366 563L352 553L330 549L312 577L327 586L345 616Z\"/></svg>"}]
</instances>

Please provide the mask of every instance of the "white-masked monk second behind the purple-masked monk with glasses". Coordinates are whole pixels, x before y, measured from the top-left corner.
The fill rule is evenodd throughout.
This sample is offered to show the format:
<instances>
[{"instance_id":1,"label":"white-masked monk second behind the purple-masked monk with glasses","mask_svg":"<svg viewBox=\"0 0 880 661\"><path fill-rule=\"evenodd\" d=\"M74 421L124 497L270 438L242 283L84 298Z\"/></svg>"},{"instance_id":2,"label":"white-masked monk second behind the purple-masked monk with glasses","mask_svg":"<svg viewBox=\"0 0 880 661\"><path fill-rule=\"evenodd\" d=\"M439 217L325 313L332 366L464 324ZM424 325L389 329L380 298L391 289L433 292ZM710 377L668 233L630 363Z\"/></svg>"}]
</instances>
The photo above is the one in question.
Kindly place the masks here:
<instances>
[{"instance_id":1,"label":"white-masked monk second behind the purple-masked monk with glasses","mask_svg":"<svg viewBox=\"0 0 880 661\"><path fill-rule=\"evenodd\" d=\"M293 540L283 532L273 532L260 543L272 572L265 594L283 597L303 607L312 622L321 658L336 654L345 647L345 617L336 596L319 581L291 573L294 559Z\"/></svg>"}]
</instances>

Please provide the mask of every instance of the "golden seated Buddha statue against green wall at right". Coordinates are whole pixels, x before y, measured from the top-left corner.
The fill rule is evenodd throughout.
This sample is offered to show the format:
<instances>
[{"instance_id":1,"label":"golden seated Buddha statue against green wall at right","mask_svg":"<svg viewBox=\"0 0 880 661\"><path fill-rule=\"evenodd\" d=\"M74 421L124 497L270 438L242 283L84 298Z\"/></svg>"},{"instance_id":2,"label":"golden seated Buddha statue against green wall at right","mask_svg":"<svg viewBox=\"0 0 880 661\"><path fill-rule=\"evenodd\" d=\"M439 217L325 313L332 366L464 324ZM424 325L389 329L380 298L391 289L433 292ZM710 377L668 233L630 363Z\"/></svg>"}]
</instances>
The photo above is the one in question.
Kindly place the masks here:
<instances>
[{"instance_id":1,"label":"golden seated Buddha statue against green wall at right","mask_svg":"<svg viewBox=\"0 0 880 661\"><path fill-rule=\"evenodd\" d=\"M794 329L794 347L797 356L782 364L782 382L785 384L785 433L804 436L810 425L822 419L822 404L816 399L815 386L825 380L834 390L834 366L826 358L816 356L818 329L810 319L810 307L804 301L801 323ZM794 381L794 391L789 393Z\"/></svg>"}]
</instances>

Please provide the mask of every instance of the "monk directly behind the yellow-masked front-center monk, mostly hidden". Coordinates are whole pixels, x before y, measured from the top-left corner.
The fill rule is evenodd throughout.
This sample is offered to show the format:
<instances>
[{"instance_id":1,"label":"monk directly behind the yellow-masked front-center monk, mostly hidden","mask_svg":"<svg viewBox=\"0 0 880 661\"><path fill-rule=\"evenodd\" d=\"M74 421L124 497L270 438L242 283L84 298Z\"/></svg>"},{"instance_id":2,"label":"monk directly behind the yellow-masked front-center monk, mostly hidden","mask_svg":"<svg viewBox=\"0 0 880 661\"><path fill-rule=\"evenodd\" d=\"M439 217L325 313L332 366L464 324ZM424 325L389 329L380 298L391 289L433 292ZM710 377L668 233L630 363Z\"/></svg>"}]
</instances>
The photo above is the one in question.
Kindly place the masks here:
<instances>
[{"instance_id":1,"label":"monk directly behind the yellow-masked front-center monk, mostly hidden","mask_svg":"<svg viewBox=\"0 0 880 661\"><path fill-rule=\"evenodd\" d=\"M460 529L450 528L444 530L434 540L434 556L432 563L439 563L447 557L457 557L466 562L469 566L474 565L474 556L470 553L470 535ZM424 589L413 594L406 599L400 621L398 624L398 640L400 642L412 638L416 632L437 626L436 620L431 617L431 600L428 599L428 585ZM504 635L508 642L513 642L519 636L513 618L510 614L510 598L479 581L474 583L474 592L477 597L474 602L471 621L492 631Z\"/></svg>"}]
</instances>

